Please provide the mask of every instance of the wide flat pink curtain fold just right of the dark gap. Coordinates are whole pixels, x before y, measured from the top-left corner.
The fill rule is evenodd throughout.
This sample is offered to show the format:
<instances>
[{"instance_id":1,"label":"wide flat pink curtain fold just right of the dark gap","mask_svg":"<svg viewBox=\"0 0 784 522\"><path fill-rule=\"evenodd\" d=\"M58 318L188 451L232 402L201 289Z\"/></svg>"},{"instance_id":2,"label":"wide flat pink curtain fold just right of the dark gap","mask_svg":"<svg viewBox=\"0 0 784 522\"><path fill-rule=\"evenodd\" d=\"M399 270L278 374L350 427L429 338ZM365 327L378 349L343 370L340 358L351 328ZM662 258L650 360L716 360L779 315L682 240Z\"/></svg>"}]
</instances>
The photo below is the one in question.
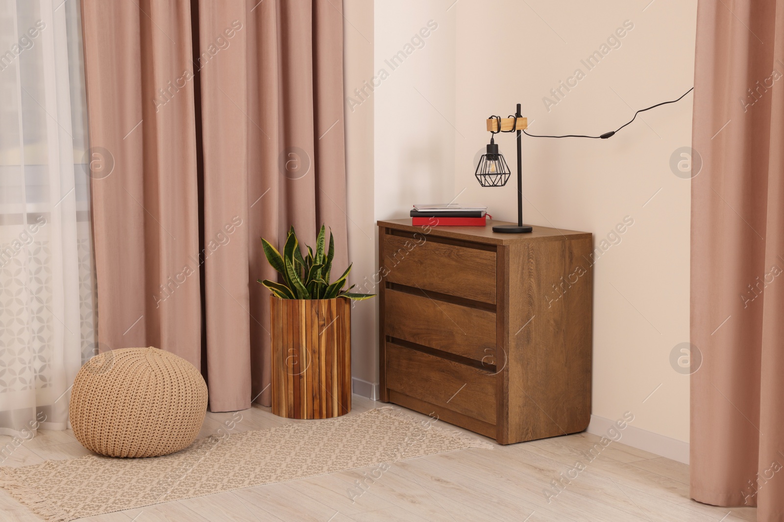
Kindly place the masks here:
<instances>
[{"instance_id":1,"label":"wide flat pink curtain fold just right of the dark gap","mask_svg":"<svg viewBox=\"0 0 784 522\"><path fill-rule=\"evenodd\" d=\"M205 261L207 382L210 409L220 412L252 399L245 26L242 2L198 2L204 233L213 252Z\"/></svg>"}]
</instances>

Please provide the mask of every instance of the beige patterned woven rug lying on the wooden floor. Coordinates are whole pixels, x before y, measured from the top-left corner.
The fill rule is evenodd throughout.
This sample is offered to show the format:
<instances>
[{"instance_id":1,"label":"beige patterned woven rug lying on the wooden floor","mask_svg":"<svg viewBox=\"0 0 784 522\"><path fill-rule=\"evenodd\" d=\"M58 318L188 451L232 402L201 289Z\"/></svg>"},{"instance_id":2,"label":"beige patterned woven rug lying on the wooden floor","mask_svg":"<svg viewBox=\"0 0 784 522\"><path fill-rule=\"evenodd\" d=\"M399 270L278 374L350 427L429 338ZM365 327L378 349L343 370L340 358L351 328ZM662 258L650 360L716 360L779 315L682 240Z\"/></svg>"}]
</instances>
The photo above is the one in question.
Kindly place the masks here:
<instances>
[{"instance_id":1,"label":"beige patterned woven rug lying on the wooden floor","mask_svg":"<svg viewBox=\"0 0 784 522\"><path fill-rule=\"evenodd\" d=\"M147 459L88 455L0 468L0 487L49 522L391 463L485 441L385 407L269 430L213 435Z\"/></svg>"}]
</instances>

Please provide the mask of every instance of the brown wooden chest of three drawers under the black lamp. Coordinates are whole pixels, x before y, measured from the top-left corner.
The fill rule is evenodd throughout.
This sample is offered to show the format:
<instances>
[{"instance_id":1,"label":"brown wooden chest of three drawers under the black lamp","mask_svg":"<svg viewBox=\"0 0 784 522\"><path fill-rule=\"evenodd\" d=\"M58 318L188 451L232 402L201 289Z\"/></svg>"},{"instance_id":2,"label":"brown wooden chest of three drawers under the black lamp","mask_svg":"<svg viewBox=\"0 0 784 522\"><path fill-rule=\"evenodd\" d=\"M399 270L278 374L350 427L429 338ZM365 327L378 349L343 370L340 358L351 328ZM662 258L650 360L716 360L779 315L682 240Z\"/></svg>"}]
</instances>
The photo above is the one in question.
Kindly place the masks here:
<instances>
[{"instance_id":1,"label":"brown wooden chest of three drawers under the black lamp","mask_svg":"<svg viewBox=\"0 0 784 522\"><path fill-rule=\"evenodd\" d=\"M500 444L586 429L590 233L378 224L381 400Z\"/></svg>"}]
</instances>

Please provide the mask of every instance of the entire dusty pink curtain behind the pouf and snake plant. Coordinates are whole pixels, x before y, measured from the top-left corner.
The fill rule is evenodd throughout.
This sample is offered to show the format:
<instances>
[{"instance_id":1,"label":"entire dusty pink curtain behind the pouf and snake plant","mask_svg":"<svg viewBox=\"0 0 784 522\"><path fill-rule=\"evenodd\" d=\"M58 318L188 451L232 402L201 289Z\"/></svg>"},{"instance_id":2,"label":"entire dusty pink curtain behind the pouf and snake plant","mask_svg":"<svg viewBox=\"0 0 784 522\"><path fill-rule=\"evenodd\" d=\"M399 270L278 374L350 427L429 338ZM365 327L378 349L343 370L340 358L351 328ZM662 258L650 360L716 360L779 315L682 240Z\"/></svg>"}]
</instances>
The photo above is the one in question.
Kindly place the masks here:
<instances>
[{"instance_id":1,"label":"entire dusty pink curtain behind the pouf and snake plant","mask_svg":"<svg viewBox=\"0 0 784 522\"><path fill-rule=\"evenodd\" d=\"M256 279L276 274L260 237L280 243L293 225L313 243L325 223L336 266L347 263L342 6L121 3L82 0L91 133L123 172L93 184L101 340L187 358L212 411L269 405L268 291ZM141 123L124 139L128 120ZM191 275L177 278L183 267Z\"/></svg>"}]
</instances>

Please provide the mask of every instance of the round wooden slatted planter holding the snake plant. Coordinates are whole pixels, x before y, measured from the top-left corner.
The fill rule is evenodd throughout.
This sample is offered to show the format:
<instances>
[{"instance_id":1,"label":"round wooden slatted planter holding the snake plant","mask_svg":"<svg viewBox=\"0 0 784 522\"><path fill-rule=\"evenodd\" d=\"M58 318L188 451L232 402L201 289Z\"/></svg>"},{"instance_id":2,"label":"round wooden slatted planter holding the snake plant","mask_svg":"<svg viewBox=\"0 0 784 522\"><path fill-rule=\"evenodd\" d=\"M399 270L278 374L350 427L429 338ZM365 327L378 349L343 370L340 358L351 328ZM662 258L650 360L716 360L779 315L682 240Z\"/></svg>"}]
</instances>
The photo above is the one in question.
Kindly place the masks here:
<instances>
[{"instance_id":1,"label":"round wooden slatted planter holding the snake plant","mask_svg":"<svg viewBox=\"0 0 784 522\"><path fill-rule=\"evenodd\" d=\"M270 296L272 412L328 419L351 411L351 303Z\"/></svg>"}]
</instances>

